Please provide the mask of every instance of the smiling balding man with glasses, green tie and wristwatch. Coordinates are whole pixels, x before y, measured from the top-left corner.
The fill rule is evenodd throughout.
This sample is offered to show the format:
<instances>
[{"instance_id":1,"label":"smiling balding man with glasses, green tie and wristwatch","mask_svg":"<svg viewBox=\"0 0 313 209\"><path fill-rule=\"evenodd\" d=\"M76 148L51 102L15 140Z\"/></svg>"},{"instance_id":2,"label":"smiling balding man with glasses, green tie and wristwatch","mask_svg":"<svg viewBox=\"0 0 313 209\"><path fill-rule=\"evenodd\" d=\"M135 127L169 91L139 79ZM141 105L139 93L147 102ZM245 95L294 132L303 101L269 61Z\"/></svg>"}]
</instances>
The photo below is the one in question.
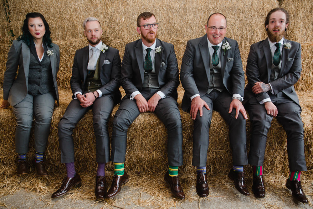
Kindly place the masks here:
<instances>
[{"instance_id":1,"label":"smiling balding man with glasses, green tie and wristwatch","mask_svg":"<svg viewBox=\"0 0 313 209\"><path fill-rule=\"evenodd\" d=\"M209 194L206 163L212 111L218 111L229 125L233 168L228 176L244 195L247 114L241 104L244 96L244 71L237 41L225 38L226 18L213 13L205 25L203 37L187 42L182 58L180 78L185 89L182 110L194 120L192 165L197 166L196 191L200 197ZM223 140L223 139L221 139Z\"/></svg>"}]
</instances>

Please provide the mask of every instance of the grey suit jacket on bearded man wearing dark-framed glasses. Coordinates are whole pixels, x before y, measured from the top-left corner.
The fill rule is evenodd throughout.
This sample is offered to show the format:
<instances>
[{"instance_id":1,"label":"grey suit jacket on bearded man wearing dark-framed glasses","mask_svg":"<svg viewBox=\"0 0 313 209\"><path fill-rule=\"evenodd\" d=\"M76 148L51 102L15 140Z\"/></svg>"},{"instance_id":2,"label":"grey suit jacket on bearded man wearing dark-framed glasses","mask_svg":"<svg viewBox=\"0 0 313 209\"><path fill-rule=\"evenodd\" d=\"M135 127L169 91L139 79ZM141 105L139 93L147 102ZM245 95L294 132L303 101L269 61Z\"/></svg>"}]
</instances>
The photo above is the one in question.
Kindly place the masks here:
<instances>
[{"instance_id":1,"label":"grey suit jacket on bearded man wearing dark-framed glasses","mask_svg":"<svg viewBox=\"0 0 313 209\"><path fill-rule=\"evenodd\" d=\"M156 39L156 47L161 52L155 54L154 66L159 88L166 97L177 100L179 85L178 64L173 44ZM129 97L134 91L141 91L144 78L144 58L141 39L126 44L122 61L121 85Z\"/></svg>"}]
</instances>

